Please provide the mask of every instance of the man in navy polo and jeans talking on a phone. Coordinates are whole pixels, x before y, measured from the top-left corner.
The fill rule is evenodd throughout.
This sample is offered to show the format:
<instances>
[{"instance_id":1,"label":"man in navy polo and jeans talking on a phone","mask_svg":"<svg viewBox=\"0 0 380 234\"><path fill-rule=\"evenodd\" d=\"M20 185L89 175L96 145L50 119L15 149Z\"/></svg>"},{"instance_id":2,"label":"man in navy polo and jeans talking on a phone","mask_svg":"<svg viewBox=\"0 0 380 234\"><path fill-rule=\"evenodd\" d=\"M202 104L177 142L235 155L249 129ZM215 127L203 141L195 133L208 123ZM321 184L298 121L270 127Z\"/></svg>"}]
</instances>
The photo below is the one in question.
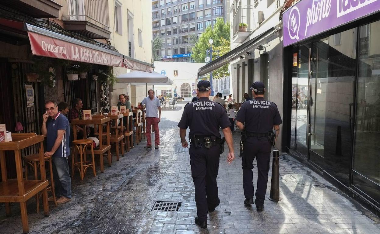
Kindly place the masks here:
<instances>
[{"instance_id":1,"label":"man in navy polo and jeans talking on a phone","mask_svg":"<svg viewBox=\"0 0 380 234\"><path fill-rule=\"evenodd\" d=\"M45 110L41 129L46 137L45 156L52 156L55 196L59 197L57 203L62 204L71 200L71 178L67 161L70 155L70 126L66 116L58 111L55 101L46 101Z\"/></svg>"}]
</instances>

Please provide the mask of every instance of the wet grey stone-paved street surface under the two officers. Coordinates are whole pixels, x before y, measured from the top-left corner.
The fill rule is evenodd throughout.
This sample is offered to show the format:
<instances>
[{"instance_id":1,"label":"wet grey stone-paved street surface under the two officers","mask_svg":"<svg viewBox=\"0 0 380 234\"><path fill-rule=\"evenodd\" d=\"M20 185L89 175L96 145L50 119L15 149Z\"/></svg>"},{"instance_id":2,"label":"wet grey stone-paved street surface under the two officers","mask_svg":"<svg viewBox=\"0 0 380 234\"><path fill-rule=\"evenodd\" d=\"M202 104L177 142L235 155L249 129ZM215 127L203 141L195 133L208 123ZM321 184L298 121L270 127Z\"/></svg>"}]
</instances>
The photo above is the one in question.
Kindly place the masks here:
<instances>
[{"instance_id":1,"label":"wet grey stone-paved street surface under the two officers","mask_svg":"<svg viewBox=\"0 0 380 234\"><path fill-rule=\"evenodd\" d=\"M183 106L183 105L182 105ZM268 199L264 212L244 206L241 158L226 163L222 154L218 187L220 206L209 214L207 229L194 224L196 206L188 150L180 145L177 122L182 107L164 110L160 149L137 145L119 162L93 177L73 180L73 199L54 207L50 217L36 213L29 200L30 233L380 233L380 220L333 185L287 154L280 156L279 203ZM236 155L239 133L234 133ZM226 147L227 148L227 147ZM254 184L257 171L254 169ZM270 188L270 175L268 192ZM180 201L178 212L153 212L154 201ZM42 210L42 209L41 209ZM5 216L0 206L0 232L22 233L19 205Z\"/></svg>"}]
</instances>

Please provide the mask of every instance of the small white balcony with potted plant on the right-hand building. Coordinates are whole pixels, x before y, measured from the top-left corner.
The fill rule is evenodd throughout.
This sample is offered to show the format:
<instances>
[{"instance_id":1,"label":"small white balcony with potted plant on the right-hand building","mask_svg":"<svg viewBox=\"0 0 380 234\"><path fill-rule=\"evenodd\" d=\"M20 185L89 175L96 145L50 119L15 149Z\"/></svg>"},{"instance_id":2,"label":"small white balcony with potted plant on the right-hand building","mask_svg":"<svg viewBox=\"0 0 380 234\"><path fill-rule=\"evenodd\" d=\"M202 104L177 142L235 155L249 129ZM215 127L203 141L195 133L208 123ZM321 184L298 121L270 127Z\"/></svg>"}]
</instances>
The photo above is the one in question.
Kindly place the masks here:
<instances>
[{"instance_id":1,"label":"small white balcony with potted plant on the right-hand building","mask_svg":"<svg viewBox=\"0 0 380 234\"><path fill-rule=\"evenodd\" d=\"M250 17L252 16L252 6L238 6L233 17L233 38L234 43L244 41L252 32Z\"/></svg>"}]
</instances>

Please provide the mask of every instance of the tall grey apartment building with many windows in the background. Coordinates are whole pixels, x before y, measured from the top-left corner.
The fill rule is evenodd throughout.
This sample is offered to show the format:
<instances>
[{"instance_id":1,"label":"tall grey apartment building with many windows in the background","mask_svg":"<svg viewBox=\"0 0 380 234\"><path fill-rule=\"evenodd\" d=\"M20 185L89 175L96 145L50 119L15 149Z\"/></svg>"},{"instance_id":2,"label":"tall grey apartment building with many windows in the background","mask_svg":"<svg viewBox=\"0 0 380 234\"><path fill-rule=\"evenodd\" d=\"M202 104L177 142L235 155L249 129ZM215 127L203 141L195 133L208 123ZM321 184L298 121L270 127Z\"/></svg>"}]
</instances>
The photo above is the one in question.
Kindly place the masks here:
<instances>
[{"instance_id":1,"label":"tall grey apartment building with many windows in the background","mask_svg":"<svg viewBox=\"0 0 380 234\"><path fill-rule=\"evenodd\" d=\"M163 39L154 53L163 61L193 62L192 37L199 35L217 18L226 20L226 0L152 0L153 38Z\"/></svg>"}]
</instances>

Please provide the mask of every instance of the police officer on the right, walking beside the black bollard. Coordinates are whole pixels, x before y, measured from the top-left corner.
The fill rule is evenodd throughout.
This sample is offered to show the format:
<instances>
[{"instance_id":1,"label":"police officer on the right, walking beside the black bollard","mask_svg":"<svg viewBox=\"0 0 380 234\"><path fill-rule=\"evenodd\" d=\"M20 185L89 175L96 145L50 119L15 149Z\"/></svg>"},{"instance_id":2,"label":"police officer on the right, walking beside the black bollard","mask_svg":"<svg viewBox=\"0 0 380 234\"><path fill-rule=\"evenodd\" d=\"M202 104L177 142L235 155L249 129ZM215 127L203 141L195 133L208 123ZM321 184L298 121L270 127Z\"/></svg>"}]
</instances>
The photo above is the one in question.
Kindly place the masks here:
<instances>
[{"instance_id":1,"label":"police officer on the right, walking beside the black bollard","mask_svg":"<svg viewBox=\"0 0 380 234\"><path fill-rule=\"evenodd\" d=\"M236 125L246 137L243 145L242 169L244 204L253 204L253 159L257 162L256 210L263 211L268 184L272 142L277 140L282 119L277 105L264 99L265 86L257 81L250 88L254 99L245 101L237 113ZM275 133L273 133L273 130ZM275 135L272 135L275 134Z\"/></svg>"}]
</instances>

